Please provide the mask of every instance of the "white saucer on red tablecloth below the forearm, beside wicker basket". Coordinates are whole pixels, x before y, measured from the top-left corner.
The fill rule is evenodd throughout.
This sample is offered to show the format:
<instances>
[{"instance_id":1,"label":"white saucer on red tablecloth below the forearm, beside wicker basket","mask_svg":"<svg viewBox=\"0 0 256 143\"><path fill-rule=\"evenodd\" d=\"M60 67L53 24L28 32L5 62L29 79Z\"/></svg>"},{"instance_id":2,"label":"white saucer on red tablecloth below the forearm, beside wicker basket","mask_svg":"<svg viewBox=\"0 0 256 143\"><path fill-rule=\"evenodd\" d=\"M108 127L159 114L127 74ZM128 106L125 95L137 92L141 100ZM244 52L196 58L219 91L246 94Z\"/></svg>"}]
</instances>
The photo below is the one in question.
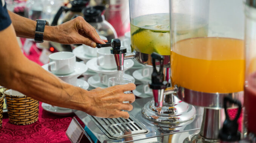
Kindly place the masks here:
<instances>
[{"instance_id":1,"label":"white saucer on red tablecloth below the forearm, beside wicker basket","mask_svg":"<svg viewBox=\"0 0 256 143\"><path fill-rule=\"evenodd\" d=\"M56 115L61 115L61 116L66 116L66 115L73 113L72 109L60 110L58 107L52 107L52 105L46 104L46 103L42 103L42 108L45 111L48 111L48 112L56 114Z\"/></svg>"}]
</instances>

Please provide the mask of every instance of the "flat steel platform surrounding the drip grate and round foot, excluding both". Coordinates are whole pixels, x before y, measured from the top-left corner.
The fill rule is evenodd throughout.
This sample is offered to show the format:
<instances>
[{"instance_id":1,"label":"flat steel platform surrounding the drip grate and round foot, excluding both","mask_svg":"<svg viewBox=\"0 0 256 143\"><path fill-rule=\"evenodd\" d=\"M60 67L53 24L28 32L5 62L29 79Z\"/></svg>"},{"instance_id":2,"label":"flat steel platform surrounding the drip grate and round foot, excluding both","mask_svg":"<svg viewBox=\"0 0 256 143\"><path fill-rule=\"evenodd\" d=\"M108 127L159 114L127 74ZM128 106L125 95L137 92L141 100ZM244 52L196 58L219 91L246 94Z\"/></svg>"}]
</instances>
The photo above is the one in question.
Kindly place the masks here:
<instances>
[{"instance_id":1,"label":"flat steel platform surrounding the drip grate and round foot, excluding both","mask_svg":"<svg viewBox=\"0 0 256 143\"><path fill-rule=\"evenodd\" d=\"M122 139L113 140L108 138L103 132L103 128L99 128L96 123L83 111L74 111L74 113L85 123L85 125L91 130L95 137L101 143L125 143L131 142L134 143L149 143L149 142L160 142L160 143L180 143L191 134L194 134L195 131L198 131L202 123L202 108L196 108L196 117L193 120L183 123L157 123L142 117L142 107L147 102L151 101L152 98L140 98L136 99L132 103L133 110L129 114L133 115L141 124L143 124L149 131L147 134L142 135L132 135ZM179 134L180 133L180 134Z\"/></svg>"}]
</instances>

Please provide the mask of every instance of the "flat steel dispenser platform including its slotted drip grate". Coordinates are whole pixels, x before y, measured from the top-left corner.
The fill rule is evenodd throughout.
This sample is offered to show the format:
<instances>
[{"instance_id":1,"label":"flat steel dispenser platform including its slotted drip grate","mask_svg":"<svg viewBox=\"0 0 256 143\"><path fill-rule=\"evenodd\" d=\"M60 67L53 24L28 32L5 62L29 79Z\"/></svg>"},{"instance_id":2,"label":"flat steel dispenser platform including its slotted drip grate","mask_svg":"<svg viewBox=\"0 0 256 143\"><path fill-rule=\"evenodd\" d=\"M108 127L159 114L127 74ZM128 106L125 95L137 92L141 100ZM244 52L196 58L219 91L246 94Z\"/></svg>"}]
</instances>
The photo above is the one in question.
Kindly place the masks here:
<instances>
[{"instance_id":1,"label":"flat steel dispenser platform including its slotted drip grate","mask_svg":"<svg viewBox=\"0 0 256 143\"><path fill-rule=\"evenodd\" d=\"M119 120L120 123L124 123L124 124L127 123L130 126L130 128L132 128L133 130L134 130L133 126L137 128L137 125L138 125L141 128L140 130L138 129L139 127L137 128L138 130L135 129L134 130L136 131L135 133L127 125L126 126L124 125L125 128L128 129L128 131L130 131L129 132L130 135L128 135L127 130L123 130L122 132L124 133L123 134L121 133L120 136L118 136L119 134L114 134L113 131L115 131L115 133L118 133L116 129L120 131L123 128L123 126L122 125L120 126L119 122L115 119L113 120L116 123L114 123L112 119L102 119L98 117L92 117L86 114L85 112L79 111L79 110L74 111L74 113L77 115L77 117L79 117L82 120L82 122L88 127L88 129L90 129L90 131L95 135L95 137L101 143L106 143L106 142L107 143L128 143L131 141L133 141L134 143L141 143L141 142L145 143L145 142L152 142L152 141L163 142L161 141L162 140L161 137L164 135L171 135L171 134L177 134L179 132L187 132L187 131L200 129L200 126L202 123L202 111L203 111L202 110L203 108L200 108L200 107L196 107L196 111L197 111L196 117L193 120L190 120L184 123L161 124L161 123L152 122L150 120L145 119L142 116L141 109L143 105L145 105L148 101L151 101L151 99L152 98L140 98L140 99L136 99L136 101L132 103L133 110L129 111L129 114L130 114L130 119L128 119L129 122L127 120L123 120L124 121L123 122L120 118L117 119ZM134 121L137 125L133 124ZM102 125L100 125L100 122L102 122L101 123ZM115 126L115 128L109 122L112 123ZM108 125L106 125L106 123ZM131 126L130 123L132 123L133 126ZM117 125L119 125L121 129L119 129ZM108 126L110 126L113 130L108 129ZM122 137L122 135L126 135L126 136ZM158 140L159 139L158 137L160 137L160 140ZM146 140L149 140L149 141L146 141ZM174 142L172 141L172 143L177 143L177 141L174 141Z\"/></svg>"}]
</instances>

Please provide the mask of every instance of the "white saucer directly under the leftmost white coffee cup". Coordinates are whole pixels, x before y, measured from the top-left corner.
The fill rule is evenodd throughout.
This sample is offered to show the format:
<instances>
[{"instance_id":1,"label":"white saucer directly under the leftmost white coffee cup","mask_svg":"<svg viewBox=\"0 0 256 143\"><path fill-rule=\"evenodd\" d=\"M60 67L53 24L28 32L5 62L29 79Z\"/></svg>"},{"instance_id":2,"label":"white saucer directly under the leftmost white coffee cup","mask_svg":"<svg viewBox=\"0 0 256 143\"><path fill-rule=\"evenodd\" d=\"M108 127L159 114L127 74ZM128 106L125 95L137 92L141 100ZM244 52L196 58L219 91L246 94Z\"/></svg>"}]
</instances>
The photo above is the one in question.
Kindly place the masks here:
<instances>
[{"instance_id":1,"label":"white saucer directly under the leftmost white coffee cup","mask_svg":"<svg viewBox=\"0 0 256 143\"><path fill-rule=\"evenodd\" d=\"M43 69L48 71L48 63L42 66ZM76 69L71 74L59 75L55 74L57 77L72 77L72 76L79 76L87 71L87 66L84 63L76 62ZM50 71L48 71L50 72Z\"/></svg>"}]
</instances>

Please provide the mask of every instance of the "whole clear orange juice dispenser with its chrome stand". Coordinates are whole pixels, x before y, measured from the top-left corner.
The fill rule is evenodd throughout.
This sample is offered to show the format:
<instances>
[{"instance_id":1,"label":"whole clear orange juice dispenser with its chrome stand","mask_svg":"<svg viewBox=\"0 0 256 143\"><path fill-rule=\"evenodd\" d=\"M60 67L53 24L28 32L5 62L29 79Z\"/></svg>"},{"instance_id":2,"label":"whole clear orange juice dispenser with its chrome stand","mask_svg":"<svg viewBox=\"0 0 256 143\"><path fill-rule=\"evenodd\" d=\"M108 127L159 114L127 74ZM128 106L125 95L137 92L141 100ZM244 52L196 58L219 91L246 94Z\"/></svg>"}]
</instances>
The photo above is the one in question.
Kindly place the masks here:
<instances>
[{"instance_id":1,"label":"whole clear orange juice dispenser with its chrome stand","mask_svg":"<svg viewBox=\"0 0 256 143\"><path fill-rule=\"evenodd\" d=\"M170 29L171 82L177 87L176 95L205 107L200 133L185 140L219 140L224 98L243 102L242 0L171 0Z\"/></svg>"}]
</instances>

